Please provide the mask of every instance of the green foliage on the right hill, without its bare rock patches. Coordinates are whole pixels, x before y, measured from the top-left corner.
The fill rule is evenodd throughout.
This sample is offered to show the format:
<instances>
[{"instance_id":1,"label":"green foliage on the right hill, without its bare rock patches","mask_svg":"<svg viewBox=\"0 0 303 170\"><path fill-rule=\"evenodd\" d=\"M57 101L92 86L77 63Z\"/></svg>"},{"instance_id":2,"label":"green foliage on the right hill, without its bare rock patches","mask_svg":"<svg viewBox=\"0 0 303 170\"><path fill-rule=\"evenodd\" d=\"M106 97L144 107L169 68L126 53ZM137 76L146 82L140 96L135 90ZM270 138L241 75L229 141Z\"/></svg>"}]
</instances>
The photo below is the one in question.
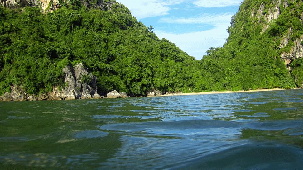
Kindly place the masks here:
<instances>
[{"instance_id":1,"label":"green foliage on the right hill, without its bare rock patches","mask_svg":"<svg viewBox=\"0 0 303 170\"><path fill-rule=\"evenodd\" d=\"M204 79L208 79L203 83L207 90L238 91L302 86L301 66L290 74L279 57L282 52L289 52L294 40L303 34L300 19L302 1L288 3L286 8L282 5L280 16L270 22L269 28L262 33L263 26L267 24L263 14L269 14L269 9L275 7L272 3L271 0L245 0L242 3L239 12L232 17L227 43L223 48L211 47L200 62ZM262 4L265 9L259 15L257 9ZM289 34L290 27L291 39L286 47L280 49L277 43ZM204 89L204 86L198 85L202 81L198 82L196 88ZM212 82L211 87L207 85L209 82Z\"/></svg>"}]
</instances>

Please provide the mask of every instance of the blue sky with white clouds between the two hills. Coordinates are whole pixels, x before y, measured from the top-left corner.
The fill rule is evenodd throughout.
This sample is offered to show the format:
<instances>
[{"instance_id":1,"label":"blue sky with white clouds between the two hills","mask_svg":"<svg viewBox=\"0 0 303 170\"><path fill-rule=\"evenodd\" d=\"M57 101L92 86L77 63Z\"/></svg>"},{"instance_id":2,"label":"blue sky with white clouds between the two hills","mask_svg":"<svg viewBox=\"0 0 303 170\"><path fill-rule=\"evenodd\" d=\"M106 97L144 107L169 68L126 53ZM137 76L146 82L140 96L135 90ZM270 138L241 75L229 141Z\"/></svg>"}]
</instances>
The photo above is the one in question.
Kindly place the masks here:
<instances>
[{"instance_id":1,"label":"blue sky with white clouds between the two hills","mask_svg":"<svg viewBox=\"0 0 303 170\"><path fill-rule=\"evenodd\" d=\"M116 0L138 21L153 26L161 39L175 43L187 54L202 59L210 47L226 42L230 20L243 0Z\"/></svg>"}]
</instances>

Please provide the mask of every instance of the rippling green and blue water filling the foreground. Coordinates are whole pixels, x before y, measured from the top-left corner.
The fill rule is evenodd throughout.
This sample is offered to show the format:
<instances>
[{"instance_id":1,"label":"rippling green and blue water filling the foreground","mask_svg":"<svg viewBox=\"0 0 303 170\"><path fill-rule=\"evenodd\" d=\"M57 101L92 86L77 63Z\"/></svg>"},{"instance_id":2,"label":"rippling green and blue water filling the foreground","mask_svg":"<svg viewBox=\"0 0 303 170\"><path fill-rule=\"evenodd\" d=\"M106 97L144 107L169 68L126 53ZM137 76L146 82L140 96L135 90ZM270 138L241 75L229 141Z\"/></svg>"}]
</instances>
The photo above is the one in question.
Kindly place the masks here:
<instances>
[{"instance_id":1,"label":"rippling green and blue water filling the foreground","mask_svg":"<svg viewBox=\"0 0 303 170\"><path fill-rule=\"evenodd\" d=\"M1 169L303 169L303 89L0 110Z\"/></svg>"}]
</instances>

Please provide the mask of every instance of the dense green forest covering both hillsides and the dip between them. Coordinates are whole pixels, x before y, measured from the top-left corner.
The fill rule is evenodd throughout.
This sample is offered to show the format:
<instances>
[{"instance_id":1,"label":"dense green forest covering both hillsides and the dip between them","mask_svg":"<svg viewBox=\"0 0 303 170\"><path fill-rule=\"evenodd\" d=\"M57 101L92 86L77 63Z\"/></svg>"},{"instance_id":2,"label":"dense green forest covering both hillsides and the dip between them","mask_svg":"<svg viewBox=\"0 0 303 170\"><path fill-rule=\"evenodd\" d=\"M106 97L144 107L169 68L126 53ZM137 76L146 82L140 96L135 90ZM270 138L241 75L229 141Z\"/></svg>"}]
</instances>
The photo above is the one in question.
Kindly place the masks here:
<instances>
[{"instance_id":1,"label":"dense green forest covering both hillsides and the dip between them","mask_svg":"<svg viewBox=\"0 0 303 170\"><path fill-rule=\"evenodd\" d=\"M105 10L79 0L60 1L53 12L0 7L0 95L10 92L12 85L29 94L64 87L62 69L78 63L97 77L99 94L302 86L303 59L292 58L286 66L281 58L303 35L301 0L288 0L286 6L280 1L279 17L269 23L257 10L264 6L262 16L270 15L277 4L245 0L231 20L226 44L210 48L198 61L169 40L160 40L152 26L138 22L125 6L110 2ZM263 32L264 25L268 26ZM279 48L288 34L289 43Z\"/></svg>"}]
</instances>

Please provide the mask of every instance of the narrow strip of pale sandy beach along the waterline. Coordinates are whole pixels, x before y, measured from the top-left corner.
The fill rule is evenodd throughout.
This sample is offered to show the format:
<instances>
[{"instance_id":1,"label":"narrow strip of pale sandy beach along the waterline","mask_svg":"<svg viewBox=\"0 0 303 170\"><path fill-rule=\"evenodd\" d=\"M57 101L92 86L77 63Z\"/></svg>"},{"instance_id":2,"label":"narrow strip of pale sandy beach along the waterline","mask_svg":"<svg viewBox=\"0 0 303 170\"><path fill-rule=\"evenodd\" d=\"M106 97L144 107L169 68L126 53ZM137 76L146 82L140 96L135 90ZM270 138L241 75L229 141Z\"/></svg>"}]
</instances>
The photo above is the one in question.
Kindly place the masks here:
<instances>
[{"instance_id":1,"label":"narrow strip of pale sandy beach along the waterline","mask_svg":"<svg viewBox=\"0 0 303 170\"><path fill-rule=\"evenodd\" d=\"M299 88L294 88L299 89ZM221 92L199 92L199 93L175 93L175 94L164 94L161 96L187 96L187 95L203 95L203 94L223 94L223 93L246 93L246 92L265 92L265 91L277 91L277 90L289 90L282 88L273 88L273 89L259 89L259 90L248 90L248 91L221 91ZM156 96L156 97L161 97Z\"/></svg>"}]
</instances>

